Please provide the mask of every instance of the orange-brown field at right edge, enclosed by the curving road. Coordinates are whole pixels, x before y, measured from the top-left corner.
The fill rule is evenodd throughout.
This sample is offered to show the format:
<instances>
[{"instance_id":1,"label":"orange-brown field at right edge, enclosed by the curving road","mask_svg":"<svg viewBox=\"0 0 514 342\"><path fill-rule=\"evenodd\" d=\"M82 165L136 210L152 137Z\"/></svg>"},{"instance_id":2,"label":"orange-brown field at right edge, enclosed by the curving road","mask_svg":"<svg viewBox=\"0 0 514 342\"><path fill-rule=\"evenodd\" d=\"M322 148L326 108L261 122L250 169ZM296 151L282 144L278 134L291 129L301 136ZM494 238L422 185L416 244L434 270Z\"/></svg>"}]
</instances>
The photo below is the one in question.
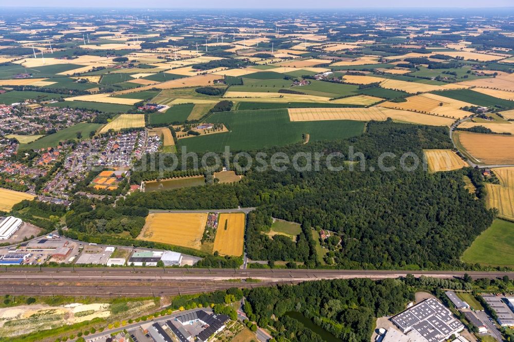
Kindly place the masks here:
<instances>
[{"instance_id":1,"label":"orange-brown field at right edge, enclosed by the curving road","mask_svg":"<svg viewBox=\"0 0 514 342\"><path fill-rule=\"evenodd\" d=\"M456 131L455 139L483 164L514 164L514 137Z\"/></svg>"}]
</instances>

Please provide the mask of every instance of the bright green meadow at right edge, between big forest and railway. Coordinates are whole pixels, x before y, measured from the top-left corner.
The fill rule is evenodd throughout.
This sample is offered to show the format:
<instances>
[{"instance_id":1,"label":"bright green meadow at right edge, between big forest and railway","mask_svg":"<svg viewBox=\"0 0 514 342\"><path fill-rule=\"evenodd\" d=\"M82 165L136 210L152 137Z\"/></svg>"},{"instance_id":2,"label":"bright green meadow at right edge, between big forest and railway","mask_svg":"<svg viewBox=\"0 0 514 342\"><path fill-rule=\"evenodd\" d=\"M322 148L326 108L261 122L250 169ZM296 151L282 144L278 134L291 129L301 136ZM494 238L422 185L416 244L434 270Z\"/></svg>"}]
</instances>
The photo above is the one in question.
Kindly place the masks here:
<instances>
[{"instance_id":1,"label":"bright green meadow at right edge, between big forest and railway","mask_svg":"<svg viewBox=\"0 0 514 342\"><path fill-rule=\"evenodd\" d=\"M462 261L514 267L514 223L496 219L464 252Z\"/></svg>"}]
</instances>

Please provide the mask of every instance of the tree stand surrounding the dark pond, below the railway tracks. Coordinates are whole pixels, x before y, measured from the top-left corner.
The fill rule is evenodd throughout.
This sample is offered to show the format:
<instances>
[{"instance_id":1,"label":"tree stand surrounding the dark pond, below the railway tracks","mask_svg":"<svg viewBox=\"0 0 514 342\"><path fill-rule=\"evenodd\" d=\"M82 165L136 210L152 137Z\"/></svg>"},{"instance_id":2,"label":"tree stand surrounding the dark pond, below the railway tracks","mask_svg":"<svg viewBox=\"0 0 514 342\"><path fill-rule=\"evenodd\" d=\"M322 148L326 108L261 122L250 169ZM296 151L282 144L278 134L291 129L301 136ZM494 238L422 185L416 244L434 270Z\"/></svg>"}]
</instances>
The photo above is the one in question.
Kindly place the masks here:
<instances>
[{"instance_id":1,"label":"tree stand surrounding the dark pond, below the railway tracks","mask_svg":"<svg viewBox=\"0 0 514 342\"><path fill-rule=\"evenodd\" d=\"M370 340L374 317L398 313L413 299L412 290L396 279L321 280L252 289L244 310L260 327L272 326L270 331L279 342L323 341L291 318L291 312L302 313L343 341L360 342Z\"/></svg>"}]
</instances>

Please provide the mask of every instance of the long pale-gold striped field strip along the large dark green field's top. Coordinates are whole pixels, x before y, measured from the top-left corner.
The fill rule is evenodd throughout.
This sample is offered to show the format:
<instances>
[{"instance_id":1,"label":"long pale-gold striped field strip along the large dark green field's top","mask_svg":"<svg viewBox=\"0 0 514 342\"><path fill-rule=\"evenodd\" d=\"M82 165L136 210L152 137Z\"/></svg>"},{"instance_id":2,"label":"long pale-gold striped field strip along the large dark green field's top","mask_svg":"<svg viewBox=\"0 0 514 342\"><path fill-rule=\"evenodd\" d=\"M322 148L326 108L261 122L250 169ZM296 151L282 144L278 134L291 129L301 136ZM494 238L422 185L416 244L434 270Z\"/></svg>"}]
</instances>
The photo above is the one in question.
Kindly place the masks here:
<instances>
[{"instance_id":1,"label":"long pale-gold striped field strip along the large dark green field's top","mask_svg":"<svg viewBox=\"0 0 514 342\"><path fill-rule=\"evenodd\" d=\"M393 120L410 122L431 126L450 126L452 119L415 113L407 110L389 109L381 107L369 108L289 108L289 120L294 121L322 121L322 120L355 120L385 121Z\"/></svg>"}]
</instances>

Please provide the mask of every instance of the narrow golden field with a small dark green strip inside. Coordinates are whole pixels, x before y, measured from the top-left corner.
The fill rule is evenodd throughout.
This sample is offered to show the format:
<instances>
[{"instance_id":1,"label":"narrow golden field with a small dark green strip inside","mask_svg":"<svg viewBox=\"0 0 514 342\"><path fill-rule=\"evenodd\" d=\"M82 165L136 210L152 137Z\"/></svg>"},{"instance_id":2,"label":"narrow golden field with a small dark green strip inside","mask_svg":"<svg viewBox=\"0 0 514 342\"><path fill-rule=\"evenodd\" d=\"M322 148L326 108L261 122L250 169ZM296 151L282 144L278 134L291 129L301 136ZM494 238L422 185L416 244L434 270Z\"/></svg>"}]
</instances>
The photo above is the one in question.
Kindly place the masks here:
<instances>
[{"instance_id":1,"label":"narrow golden field with a small dark green strip inside","mask_svg":"<svg viewBox=\"0 0 514 342\"><path fill-rule=\"evenodd\" d=\"M225 222L227 222L226 230ZM245 214L219 214L213 251L218 251L221 255L242 255L244 235Z\"/></svg>"}]
</instances>

